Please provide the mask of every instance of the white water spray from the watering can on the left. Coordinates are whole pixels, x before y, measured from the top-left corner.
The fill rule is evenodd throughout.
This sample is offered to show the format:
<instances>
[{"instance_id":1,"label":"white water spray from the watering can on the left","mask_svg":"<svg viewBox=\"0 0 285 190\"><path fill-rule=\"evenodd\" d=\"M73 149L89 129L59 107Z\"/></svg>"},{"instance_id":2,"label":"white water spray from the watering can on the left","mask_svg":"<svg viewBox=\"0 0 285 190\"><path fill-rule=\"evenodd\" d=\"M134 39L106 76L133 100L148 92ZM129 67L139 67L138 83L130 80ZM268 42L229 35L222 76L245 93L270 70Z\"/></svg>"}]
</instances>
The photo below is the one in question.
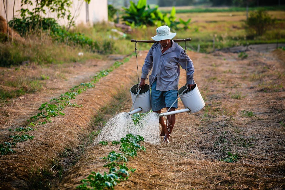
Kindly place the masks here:
<instances>
[{"instance_id":1,"label":"white water spray from the watering can on the left","mask_svg":"<svg viewBox=\"0 0 285 190\"><path fill-rule=\"evenodd\" d=\"M119 141L129 133L134 133L135 125L131 116L127 112L114 115L102 128L96 142L100 141Z\"/></svg>"}]
</instances>

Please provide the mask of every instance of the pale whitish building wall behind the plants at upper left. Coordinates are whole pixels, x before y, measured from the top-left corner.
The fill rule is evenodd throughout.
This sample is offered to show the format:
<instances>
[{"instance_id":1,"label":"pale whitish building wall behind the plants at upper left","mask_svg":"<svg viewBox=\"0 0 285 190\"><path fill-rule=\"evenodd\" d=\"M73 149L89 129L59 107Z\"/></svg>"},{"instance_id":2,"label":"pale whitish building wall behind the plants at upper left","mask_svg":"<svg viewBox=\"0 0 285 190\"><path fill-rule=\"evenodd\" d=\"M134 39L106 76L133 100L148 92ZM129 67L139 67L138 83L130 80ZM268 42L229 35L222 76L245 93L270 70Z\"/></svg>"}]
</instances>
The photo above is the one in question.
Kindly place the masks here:
<instances>
[{"instance_id":1,"label":"pale whitish building wall behind the plants at upper left","mask_svg":"<svg viewBox=\"0 0 285 190\"><path fill-rule=\"evenodd\" d=\"M35 0L32 0L33 2ZM14 0L4 0L5 8L8 15L8 21L12 20L13 18L13 4ZM75 16L75 25L78 24L86 24L92 25L97 22L108 22L108 0L91 0L88 5L89 14L86 15L86 3L84 0L72 0L72 7L70 11L72 16ZM27 6L23 8L28 8ZM14 16L20 18L20 13L18 10L21 9L21 0L15 1L15 9L14 9ZM0 15L6 19L5 10L3 0L0 1ZM56 18L55 14L48 13L43 15L44 17L52 17ZM86 17L89 17L89 22L86 22ZM60 25L67 25L67 20L65 19L57 19Z\"/></svg>"}]
</instances>

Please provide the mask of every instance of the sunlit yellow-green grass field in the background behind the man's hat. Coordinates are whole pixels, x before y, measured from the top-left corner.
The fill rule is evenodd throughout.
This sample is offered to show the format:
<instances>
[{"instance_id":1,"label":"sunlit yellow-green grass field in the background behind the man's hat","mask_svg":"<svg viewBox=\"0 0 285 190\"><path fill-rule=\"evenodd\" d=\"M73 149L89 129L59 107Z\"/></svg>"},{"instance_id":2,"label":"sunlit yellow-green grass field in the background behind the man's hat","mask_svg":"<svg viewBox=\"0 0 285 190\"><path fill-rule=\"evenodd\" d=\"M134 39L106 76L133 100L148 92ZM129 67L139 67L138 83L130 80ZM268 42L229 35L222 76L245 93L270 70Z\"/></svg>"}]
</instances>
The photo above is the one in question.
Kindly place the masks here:
<instances>
[{"instance_id":1,"label":"sunlit yellow-green grass field in the background behind the man's hat","mask_svg":"<svg viewBox=\"0 0 285 190\"><path fill-rule=\"evenodd\" d=\"M179 9L176 10L178 12ZM179 18L187 21L191 18L187 30L173 31L177 32L174 39L191 38L188 42L194 51L197 51L200 45L200 52L213 52L213 39L215 38L215 49L234 47L239 45L263 44L263 43L284 43L285 42L285 12L269 11L272 18L276 18L276 25L270 28L265 35L258 37L246 37L245 20L246 11L240 12L188 12L176 13ZM180 27L183 27L182 25ZM143 29L133 29L133 32L127 36L128 39L149 40L155 35L156 27L147 27ZM129 47L129 41L122 41L119 44L125 44ZM149 48L150 44L139 43L140 48ZM127 49L124 49L127 51Z\"/></svg>"}]
</instances>

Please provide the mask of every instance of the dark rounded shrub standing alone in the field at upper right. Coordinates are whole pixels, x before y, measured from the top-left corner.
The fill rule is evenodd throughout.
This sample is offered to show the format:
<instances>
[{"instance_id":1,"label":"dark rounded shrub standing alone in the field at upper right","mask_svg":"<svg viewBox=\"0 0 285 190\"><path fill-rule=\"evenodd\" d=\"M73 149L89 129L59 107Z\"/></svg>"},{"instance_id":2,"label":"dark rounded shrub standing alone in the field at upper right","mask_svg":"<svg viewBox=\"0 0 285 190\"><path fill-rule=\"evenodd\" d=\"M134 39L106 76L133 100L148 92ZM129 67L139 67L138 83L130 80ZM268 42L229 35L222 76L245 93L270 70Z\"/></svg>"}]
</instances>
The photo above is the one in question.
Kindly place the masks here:
<instances>
[{"instance_id":1,"label":"dark rounded shrub standing alone in the field at upper right","mask_svg":"<svg viewBox=\"0 0 285 190\"><path fill-rule=\"evenodd\" d=\"M275 22L276 19L271 18L264 10L250 12L250 16L245 22L247 35L261 36L272 27Z\"/></svg>"}]
</instances>

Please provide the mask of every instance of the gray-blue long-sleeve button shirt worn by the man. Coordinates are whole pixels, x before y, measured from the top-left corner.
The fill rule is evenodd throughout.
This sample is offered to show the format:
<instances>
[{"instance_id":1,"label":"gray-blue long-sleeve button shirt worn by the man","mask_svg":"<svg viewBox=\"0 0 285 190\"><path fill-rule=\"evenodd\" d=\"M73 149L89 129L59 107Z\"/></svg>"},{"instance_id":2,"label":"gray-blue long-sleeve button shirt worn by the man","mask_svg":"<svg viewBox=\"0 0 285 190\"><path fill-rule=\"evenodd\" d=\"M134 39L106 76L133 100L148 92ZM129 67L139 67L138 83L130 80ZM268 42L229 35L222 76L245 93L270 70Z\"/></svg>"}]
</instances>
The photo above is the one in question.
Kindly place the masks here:
<instances>
[{"instance_id":1,"label":"gray-blue long-sleeve button shirt worn by the man","mask_svg":"<svg viewBox=\"0 0 285 190\"><path fill-rule=\"evenodd\" d=\"M156 90L168 91L178 90L180 67L186 70L187 62L187 84L195 84L193 80L194 66L192 60L186 55L184 49L173 40L172 46L161 54L159 42L154 43L146 55L145 63L142 68L141 78L147 78L149 75L149 84L156 80Z\"/></svg>"}]
</instances>

